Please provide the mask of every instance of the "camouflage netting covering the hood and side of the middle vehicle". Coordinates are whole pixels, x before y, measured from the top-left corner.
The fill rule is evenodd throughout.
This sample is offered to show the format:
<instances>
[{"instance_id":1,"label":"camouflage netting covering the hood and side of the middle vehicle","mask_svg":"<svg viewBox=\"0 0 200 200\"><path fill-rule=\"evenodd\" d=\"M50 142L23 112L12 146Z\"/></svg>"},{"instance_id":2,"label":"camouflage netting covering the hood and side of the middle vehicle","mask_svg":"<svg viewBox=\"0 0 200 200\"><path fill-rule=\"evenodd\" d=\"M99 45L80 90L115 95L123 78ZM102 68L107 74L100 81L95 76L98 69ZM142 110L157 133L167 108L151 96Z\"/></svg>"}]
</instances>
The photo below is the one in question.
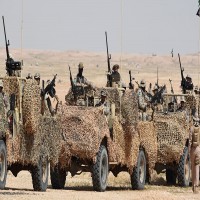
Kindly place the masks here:
<instances>
[{"instance_id":1,"label":"camouflage netting covering the hood and side of the middle vehicle","mask_svg":"<svg viewBox=\"0 0 200 200\"><path fill-rule=\"evenodd\" d=\"M108 137L109 160L111 162L117 162L121 166L127 166L129 171L132 172L133 167L137 163L139 146L142 145L147 153L149 168L152 169L157 158L155 128L152 123L140 123L137 127L137 96L132 90L126 90L125 93L122 94L123 92L119 91L117 88L98 88L95 91L95 96L100 97L100 92L102 90L107 93L107 100L110 103L115 103L116 108L116 117L113 119L113 140L110 136ZM69 91L68 97L70 97L70 93L71 91ZM73 98L72 95L71 97ZM98 132L93 130L94 127L98 130L99 125L102 124L101 120L100 123L98 123L99 117L102 118L102 116L100 116L102 114L96 115L96 117L94 115L94 113L97 112L97 109L98 108L63 107L63 116L66 116L66 119L62 124L65 124L64 133L67 134L67 136L65 136L66 141L67 143L70 141L68 147L65 146L68 151L73 151L73 155L93 160L96 157L96 152L98 151L101 139L104 136L104 134L102 134L102 137L97 138ZM91 118L88 118L90 115ZM70 126L67 124L70 124ZM108 132L107 126L107 124L104 124L103 129ZM91 136L87 137L90 132ZM138 135L138 132L140 136ZM107 135L109 135L109 132ZM146 141L146 137L148 141ZM83 140L83 138L85 139ZM71 147L73 147L73 149L71 149ZM68 156L70 157L69 154Z\"/></svg>"}]
</instances>

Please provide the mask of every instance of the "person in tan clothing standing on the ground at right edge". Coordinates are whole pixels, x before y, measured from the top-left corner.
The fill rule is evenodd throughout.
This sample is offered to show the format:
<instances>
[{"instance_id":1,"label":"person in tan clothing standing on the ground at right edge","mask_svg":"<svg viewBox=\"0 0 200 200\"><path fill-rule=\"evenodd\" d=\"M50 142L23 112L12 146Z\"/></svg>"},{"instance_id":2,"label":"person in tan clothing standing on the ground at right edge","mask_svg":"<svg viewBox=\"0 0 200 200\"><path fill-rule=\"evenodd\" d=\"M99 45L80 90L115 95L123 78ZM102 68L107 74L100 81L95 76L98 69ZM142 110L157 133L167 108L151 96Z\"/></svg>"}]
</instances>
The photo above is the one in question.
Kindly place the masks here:
<instances>
[{"instance_id":1,"label":"person in tan clothing standing on the ground at right edge","mask_svg":"<svg viewBox=\"0 0 200 200\"><path fill-rule=\"evenodd\" d=\"M192 191L198 193L199 186L199 164L200 164L200 147L199 147L199 119L193 117L194 127L190 131L190 157L192 167Z\"/></svg>"}]
</instances>

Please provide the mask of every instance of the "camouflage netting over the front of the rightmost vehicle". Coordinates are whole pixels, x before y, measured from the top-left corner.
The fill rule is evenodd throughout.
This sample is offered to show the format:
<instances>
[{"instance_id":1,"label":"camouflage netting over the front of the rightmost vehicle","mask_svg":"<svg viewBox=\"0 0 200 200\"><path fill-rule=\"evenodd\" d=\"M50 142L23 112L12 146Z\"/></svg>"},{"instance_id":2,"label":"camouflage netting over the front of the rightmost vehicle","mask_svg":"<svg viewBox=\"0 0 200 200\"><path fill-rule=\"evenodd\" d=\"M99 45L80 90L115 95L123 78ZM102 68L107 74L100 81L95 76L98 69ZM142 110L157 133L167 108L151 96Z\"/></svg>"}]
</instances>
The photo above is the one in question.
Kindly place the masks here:
<instances>
[{"instance_id":1,"label":"camouflage netting over the front of the rightmost vehicle","mask_svg":"<svg viewBox=\"0 0 200 200\"><path fill-rule=\"evenodd\" d=\"M155 113L154 122L158 140L158 162L179 162L186 139L189 137L189 127L185 112L159 114Z\"/></svg>"}]
</instances>

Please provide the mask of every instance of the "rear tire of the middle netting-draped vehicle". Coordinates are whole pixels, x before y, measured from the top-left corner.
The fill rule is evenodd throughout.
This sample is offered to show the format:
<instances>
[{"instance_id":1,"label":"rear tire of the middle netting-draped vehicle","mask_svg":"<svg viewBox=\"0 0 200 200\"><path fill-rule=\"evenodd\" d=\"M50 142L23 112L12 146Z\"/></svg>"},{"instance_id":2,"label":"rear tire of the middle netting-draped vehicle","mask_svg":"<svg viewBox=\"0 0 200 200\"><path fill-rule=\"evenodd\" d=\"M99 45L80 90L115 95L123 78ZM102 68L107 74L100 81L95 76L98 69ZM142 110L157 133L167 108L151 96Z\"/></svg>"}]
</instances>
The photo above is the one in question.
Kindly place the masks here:
<instances>
[{"instance_id":1,"label":"rear tire of the middle netting-draped vehicle","mask_svg":"<svg viewBox=\"0 0 200 200\"><path fill-rule=\"evenodd\" d=\"M140 149L137 159L137 165L133 168L131 174L131 185L133 190L144 189L146 181L146 157L142 149Z\"/></svg>"}]
</instances>

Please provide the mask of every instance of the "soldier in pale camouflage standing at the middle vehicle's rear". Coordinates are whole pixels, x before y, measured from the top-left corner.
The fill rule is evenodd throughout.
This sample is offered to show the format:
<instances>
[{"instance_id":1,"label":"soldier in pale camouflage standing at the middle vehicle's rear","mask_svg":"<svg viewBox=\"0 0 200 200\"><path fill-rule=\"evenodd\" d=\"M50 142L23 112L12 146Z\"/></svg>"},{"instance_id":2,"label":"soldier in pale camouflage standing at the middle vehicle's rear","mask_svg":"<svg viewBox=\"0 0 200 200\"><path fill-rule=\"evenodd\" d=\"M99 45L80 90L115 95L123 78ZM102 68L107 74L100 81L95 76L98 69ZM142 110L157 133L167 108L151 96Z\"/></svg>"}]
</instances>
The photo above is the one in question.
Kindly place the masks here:
<instances>
[{"instance_id":1,"label":"soldier in pale camouflage standing at the middle vehicle's rear","mask_svg":"<svg viewBox=\"0 0 200 200\"><path fill-rule=\"evenodd\" d=\"M147 110L147 103L150 99L146 94L145 91L145 87L146 87L146 82L145 80L141 80L140 81L140 85L139 85L139 89L137 92L137 96L138 96L138 106L139 106L139 118L142 121L147 121L147 114L146 114L146 110Z\"/></svg>"}]
</instances>

